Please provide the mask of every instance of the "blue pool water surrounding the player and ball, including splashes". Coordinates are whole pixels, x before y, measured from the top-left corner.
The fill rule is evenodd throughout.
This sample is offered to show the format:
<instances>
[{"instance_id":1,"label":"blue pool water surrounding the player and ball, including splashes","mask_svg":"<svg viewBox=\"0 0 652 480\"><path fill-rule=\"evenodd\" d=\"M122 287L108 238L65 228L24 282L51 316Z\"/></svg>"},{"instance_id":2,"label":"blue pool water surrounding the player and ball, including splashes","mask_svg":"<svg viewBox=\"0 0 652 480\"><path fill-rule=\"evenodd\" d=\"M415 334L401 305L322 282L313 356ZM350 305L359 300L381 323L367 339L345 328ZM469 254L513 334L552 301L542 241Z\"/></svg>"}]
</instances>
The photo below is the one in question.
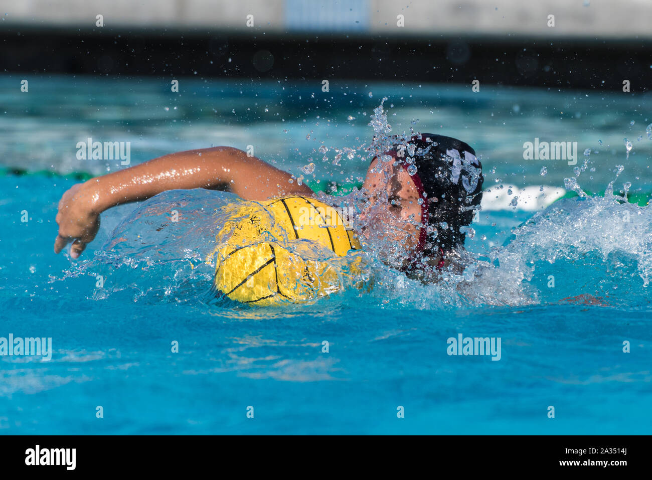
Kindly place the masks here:
<instances>
[{"instance_id":1,"label":"blue pool water surrounding the player and ball, including splashes","mask_svg":"<svg viewBox=\"0 0 652 480\"><path fill-rule=\"evenodd\" d=\"M201 79L171 94L167 80L50 77L20 93L10 76L0 85L0 166L27 172L0 176L0 337L53 345L50 361L0 357L1 432L649 434L652 207L609 192L545 210L545 198L511 204L525 187L544 186L550 199L572 190L574 166L523 159L535 137L578 142L575 167L590 149L577 177L585 191L614 182L617 194L629 182L630 194L649 197L649 95L389 83L323 95L321 83ZM370 293L282 308L211 303L201 258L213 214L234 198L205 190L106 212L78 262L52 252L57 202L74 180L34 172L121 168L77 160L89 136L131 142L132 164L253 145L306 181L355 183L366 165L346 155L334 165L333 149L369 142L383 96L394 132L418 119L416 130L458 136L482 155L491 191L462 276L423 286L375 265ZM173 206L194 220L157 231ZM500 360L447 355L460 333L500 337Z\"/></svg>"}]
</instances>

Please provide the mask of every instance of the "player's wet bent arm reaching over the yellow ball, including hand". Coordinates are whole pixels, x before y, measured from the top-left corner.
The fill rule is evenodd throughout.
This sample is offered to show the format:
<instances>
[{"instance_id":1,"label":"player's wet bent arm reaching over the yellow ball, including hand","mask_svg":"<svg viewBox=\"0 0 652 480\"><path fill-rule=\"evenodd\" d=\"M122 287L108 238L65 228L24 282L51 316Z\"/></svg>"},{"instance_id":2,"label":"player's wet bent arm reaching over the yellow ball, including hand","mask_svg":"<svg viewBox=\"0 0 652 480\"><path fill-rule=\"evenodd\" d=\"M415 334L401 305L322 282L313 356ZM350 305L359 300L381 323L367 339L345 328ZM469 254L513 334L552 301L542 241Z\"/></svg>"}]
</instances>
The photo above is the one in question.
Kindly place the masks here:
<instances>
[{"instance_id":1,"label":"player's wet bent arm reaching over the yellow ball, including hand","mask_svg":"<svg viewBox=\"0 0 652 480\"><path fill-rule=\"evenodd\" d=\"M165 190L209 188L227 190L244 200L284 195L312 196L292 175L231 147L172 153L140 165L74 185L59 201L59 235L55 253L72 241L70 256L78 258L100 227L100 213L121 203L146 200Z\"/></svg>"}]
</instances>

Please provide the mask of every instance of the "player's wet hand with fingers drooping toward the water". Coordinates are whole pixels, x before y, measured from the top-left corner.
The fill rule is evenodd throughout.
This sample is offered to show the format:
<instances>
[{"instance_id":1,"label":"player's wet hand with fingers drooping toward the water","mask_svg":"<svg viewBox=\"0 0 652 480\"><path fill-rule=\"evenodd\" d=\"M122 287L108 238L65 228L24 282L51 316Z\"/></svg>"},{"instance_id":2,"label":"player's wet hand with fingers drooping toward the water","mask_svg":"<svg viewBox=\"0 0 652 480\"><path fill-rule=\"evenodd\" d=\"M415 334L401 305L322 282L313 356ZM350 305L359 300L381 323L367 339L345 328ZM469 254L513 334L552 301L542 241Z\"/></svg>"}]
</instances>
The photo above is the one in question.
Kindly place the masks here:
<instances>
[{"instance_id":1,"label":"player's wet hand with fingers drooping toward the water","mask_svg":"<svg viewBox=\"0 0 652 480\"><path fill-rule=\"evenodd\" d=\"M55 220L59 235L54 241L54 252L59 253L72 241L70 256L78 258L91 243L100 228L100 214L93 209L93 197L84 183L73 185L59 200Z\"/></svg>"}]
</instances>

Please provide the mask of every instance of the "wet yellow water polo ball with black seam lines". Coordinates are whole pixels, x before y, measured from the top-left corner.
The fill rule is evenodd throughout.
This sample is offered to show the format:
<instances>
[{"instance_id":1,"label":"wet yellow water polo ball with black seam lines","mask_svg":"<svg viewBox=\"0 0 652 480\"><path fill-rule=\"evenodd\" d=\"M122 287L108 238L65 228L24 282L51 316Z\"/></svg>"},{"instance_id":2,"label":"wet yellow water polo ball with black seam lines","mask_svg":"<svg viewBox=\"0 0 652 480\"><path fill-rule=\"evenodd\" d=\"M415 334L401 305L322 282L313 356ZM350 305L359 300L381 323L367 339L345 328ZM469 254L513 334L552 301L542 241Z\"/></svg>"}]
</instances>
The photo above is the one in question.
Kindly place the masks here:
<instances>
[{"instance_id":1,"label":"wet yellow water polo ball with black seam lines","mask_svg":"<svg viewBox=\"0 0 652 480\"><path fill-rule=\"evenodd\" d=\"M216 240L213 288L242 303L314 301L362 271L361 256L351 252L361 248L357 235L314 198L241 202Z\"/></svg>"}]
</instances>

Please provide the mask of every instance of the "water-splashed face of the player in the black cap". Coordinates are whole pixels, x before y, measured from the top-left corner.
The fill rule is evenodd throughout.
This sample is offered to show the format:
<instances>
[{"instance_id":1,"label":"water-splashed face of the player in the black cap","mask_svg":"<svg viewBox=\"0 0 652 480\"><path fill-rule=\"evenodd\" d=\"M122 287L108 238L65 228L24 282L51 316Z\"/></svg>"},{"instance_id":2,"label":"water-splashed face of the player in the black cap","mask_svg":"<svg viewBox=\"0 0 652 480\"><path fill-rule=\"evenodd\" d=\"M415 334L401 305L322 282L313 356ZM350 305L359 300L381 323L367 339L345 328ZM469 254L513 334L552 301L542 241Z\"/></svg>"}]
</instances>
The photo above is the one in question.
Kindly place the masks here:
<instances>
[{"instance_id":1,"label":"water-splashed face of the player in the black cap","mask_svg":"<svg viewBox=\"0 0 652 480\"><path fill-rule=\"evenodd\" d=\"M403 247L403 253L413 252L419 244L421 205L419 190L396 160L374 160L367 171L363 188L368 203L362 218L367 222L363 235L387 240Z\"/></svg>"}]
</instances>

